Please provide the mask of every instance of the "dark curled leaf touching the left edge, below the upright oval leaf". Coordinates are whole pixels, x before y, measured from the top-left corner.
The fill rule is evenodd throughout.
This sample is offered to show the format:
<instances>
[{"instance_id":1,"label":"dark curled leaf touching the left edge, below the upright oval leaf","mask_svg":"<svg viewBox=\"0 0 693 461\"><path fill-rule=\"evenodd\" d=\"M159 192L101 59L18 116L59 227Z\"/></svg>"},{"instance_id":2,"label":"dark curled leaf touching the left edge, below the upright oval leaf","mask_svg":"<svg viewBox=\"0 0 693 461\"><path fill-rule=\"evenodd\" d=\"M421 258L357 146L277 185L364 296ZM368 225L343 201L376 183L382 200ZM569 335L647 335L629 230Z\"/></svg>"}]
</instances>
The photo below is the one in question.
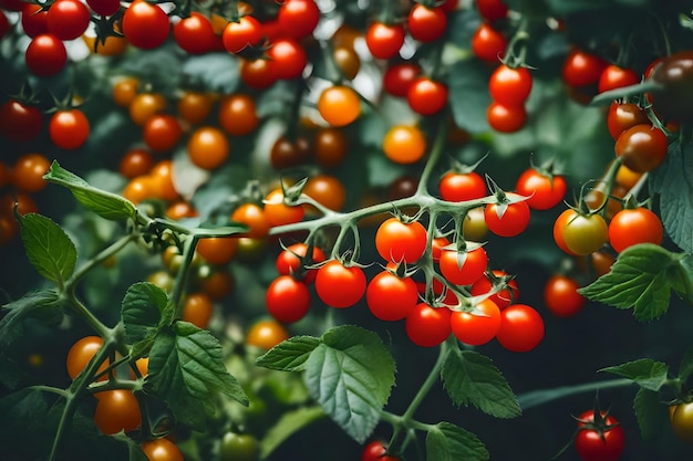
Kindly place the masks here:
<instances>
[{"instance_id":1,"label":"dark curled leaf touching the left edge, below the upright oval leaf","mask_svg":"<svg viewBox=\"0 0 693 461\"><path fill-rule=\"evenodd\" d=\"M0 319L0 346L3 348L23 334L23 322L34 318L45 325L56 325L63 318L62 298L53 290L29 292L17 301L2 306Z\"/></svg>"}]
</instances>

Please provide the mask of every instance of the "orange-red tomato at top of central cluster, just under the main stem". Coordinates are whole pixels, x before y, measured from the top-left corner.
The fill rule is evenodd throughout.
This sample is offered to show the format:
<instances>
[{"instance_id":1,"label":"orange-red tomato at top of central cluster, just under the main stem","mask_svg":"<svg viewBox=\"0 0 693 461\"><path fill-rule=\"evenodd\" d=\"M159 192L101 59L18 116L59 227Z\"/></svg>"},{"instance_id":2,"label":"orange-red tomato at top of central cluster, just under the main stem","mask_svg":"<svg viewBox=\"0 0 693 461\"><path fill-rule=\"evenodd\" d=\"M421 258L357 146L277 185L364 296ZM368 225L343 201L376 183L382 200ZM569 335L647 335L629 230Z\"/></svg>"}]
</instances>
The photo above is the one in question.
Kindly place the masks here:
<instances>
[{"instance_id":1,"label":"orange-red tomato at top of central cluster, just under the main stem","mask_svg":"<svg viewBox=\"0 0 693 461\"><path fill-rule=\"evenodd\" d=\"M427 232L418 221L404 222L397 218L385 220L375 232L375 248L386 261L413 263L427 245Z\"/></svg>"}]
</instances>

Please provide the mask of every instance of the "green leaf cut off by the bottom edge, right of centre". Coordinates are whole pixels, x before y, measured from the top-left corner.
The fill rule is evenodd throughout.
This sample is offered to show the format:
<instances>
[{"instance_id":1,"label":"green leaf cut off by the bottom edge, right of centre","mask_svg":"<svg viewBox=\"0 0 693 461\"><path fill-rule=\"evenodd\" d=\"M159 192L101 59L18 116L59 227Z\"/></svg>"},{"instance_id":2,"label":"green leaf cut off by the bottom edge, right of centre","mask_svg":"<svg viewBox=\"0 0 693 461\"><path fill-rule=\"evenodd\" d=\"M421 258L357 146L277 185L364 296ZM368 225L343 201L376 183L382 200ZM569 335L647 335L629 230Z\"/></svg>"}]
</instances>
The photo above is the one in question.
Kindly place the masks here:
<instances>
[{"instance_id":1,"label":"green leaf cut off by the bottom edge, right of centre","mask_svg":"<svg viewBox=\"0 0 693 461\"><path fill-rule=\"evenodd\" d=\"M438 422L426 436L428 461L486 461L488 450L474 433L449 422Z\"/></svg>"}]
</instances>

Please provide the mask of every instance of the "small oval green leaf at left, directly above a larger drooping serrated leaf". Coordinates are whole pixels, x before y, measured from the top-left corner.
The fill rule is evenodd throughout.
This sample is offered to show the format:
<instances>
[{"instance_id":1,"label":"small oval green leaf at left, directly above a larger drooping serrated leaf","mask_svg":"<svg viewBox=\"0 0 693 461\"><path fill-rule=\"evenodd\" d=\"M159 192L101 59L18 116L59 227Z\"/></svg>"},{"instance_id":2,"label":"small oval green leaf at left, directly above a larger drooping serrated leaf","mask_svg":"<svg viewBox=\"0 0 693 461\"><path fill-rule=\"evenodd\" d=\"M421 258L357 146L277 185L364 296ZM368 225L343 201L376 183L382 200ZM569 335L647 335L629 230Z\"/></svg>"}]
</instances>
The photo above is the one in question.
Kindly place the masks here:
<instances>
[{"instance_id":1,"label":"small oval green leaf at left, directly above a larger drooping serrated leaf","mask_svg":"<svg viewBox=\"0 0 693 461\"><path fill-rule=\"evenodd\" d=\"M125 326L125 340L136 344L152 339L168 304L166 292L153 283L131 285L121 304L121 318Z\"/></svg>"}]
</instances>

